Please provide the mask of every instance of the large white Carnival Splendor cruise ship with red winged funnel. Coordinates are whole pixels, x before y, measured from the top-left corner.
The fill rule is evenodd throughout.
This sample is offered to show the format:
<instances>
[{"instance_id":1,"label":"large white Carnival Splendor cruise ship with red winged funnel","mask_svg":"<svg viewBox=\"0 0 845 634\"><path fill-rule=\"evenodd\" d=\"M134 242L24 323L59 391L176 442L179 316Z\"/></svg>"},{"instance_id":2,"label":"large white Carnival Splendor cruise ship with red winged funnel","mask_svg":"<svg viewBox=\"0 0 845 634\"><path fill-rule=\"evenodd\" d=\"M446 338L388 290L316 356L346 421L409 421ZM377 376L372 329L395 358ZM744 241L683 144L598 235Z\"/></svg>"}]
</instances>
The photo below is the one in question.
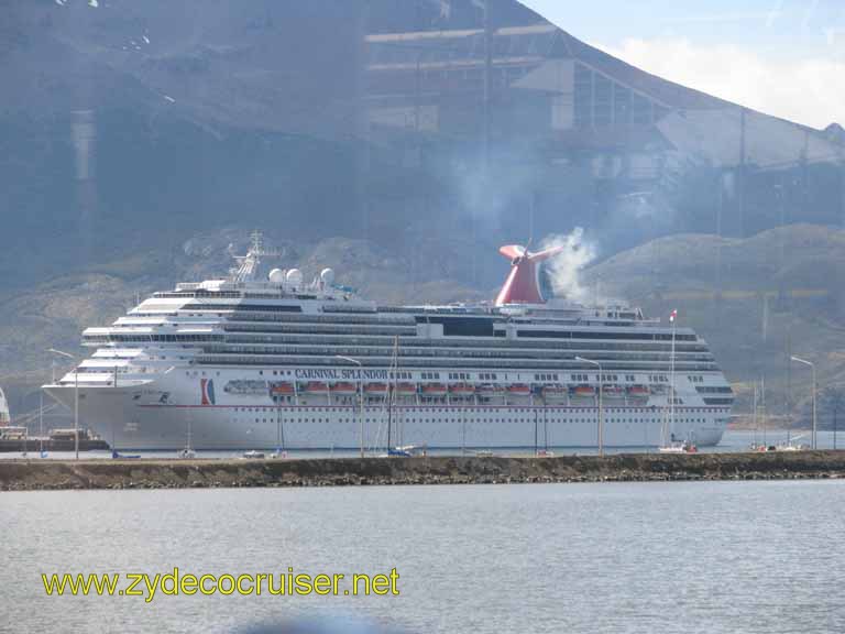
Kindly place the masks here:
<instances>
[{"instance_id":1,"label":"large white Carnival Splendor cruise ship with red winged funnel","mask_svg":"<svg viewBox=\"0 0 845 634\"><path fill-rule=\"evenodd\" d=\"M391 306L273 269L259 233L219 280L85 330L44 390L114 449L465 450L720 441L733 393L706 341L624 303L547 297L556 253L503 247L495 300Z\"/></svg>"}]
</instances>

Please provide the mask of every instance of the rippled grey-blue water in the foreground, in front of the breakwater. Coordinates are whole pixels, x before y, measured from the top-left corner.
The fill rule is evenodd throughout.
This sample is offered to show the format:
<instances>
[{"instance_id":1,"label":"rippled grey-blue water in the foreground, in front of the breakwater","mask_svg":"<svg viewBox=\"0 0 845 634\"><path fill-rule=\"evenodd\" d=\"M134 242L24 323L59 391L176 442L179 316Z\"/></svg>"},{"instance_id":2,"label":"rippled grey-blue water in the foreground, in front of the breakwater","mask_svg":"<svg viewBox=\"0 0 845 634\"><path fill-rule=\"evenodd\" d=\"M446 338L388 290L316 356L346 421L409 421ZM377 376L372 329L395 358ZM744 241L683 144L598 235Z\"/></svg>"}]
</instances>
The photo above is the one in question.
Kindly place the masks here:
<instances>
[{"instance_id":1,"label":"rippled grey-blue water in the foreground, in front of the breakwater","mask_svg":"<svg viewBox=\"0 0 845 634\"><path fill-rule=\"evenodd\" d=\"M2 632L845 631L845 482L0 495ZM383 572L399 597L45 597L41 572ZM345 616L344 616L345 619ZM349 631L348 627L332 631Z\"/></svg>"}]
</instances>

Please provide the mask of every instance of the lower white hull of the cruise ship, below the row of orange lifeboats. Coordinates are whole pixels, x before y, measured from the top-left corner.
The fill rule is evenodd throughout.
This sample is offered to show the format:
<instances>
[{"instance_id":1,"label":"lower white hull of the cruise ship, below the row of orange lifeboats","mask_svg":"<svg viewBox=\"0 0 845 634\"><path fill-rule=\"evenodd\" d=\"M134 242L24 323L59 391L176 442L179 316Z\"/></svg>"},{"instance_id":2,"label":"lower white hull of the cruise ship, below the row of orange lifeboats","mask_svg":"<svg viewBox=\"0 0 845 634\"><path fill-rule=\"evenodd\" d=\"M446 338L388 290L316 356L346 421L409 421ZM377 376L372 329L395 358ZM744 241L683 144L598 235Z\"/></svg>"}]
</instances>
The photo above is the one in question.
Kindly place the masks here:
<instances>
[{"instance_id":1,"label":"lower white hull of the cruise ship, below the row of orange lifeboats","mask_svg":"<svg viewBox=\"0 0 845 634\"><path fill-rule=\"evenodd\" d=\"M73 387L47 387L73 408ZM80 424L116 449L198 450L356 449L358 405L274 405L268 398L240 398L239 404L161 404L156 392L122 387L80 387ZM663 442L666 411L657 406L610 404L603 407L606 447L655 447ZM545 405L395 405L364 408L364 446L419 445L460 448L594 448L599 409ZM389 444L388 444L389 418ZM699 446L718 444L727 412L677 408L673 434Z\"/></svg>"}]
</instances>

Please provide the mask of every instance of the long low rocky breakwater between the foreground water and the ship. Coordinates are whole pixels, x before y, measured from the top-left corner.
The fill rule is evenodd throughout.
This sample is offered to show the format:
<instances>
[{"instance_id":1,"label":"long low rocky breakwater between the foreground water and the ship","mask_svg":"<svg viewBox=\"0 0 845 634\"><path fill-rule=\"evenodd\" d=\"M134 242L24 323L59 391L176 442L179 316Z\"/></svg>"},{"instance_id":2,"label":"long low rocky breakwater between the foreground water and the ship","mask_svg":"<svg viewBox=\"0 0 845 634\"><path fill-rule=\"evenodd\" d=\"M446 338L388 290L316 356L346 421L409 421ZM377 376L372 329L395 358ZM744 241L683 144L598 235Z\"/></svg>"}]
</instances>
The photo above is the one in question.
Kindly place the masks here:
<instances>
[{"instance_id":1,"label":"long low rocky breakwater between the foreground water and the ship","mask_svg":"<svg viewBox=\"0 0 845 634\"><path fill-rule=\"evenodd\" d=\"M845 451L623 453L603 458L0 461L0 491L835 478L845 478Z\"/></svg>"}]
</instances>

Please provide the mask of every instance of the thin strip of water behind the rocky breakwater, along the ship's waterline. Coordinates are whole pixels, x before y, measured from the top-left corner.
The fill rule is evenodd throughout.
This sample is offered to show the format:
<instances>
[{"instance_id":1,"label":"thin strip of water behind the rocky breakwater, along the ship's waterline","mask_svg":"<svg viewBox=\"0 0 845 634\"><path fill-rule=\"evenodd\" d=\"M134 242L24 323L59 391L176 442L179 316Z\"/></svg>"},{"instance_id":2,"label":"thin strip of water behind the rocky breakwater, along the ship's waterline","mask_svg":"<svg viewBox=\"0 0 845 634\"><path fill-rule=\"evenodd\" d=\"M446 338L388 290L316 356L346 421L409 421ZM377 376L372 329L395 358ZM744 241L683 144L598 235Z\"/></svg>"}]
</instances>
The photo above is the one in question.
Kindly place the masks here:
<instances>
[{"instance_id":1,"label":"thin strip of water behind the rocky breakwater, along the ship's waterline","mask_svg":"<svg viewBox=\"0 0 845 634\"><path fill-rule=\"evenodd\" d=\"M835 442L834 442L835 436ZM795 440L798 438L798 440ZM699 450L703 453L726 453L732 451L748 451L751 444L762 444L764 440L768 445L777 445L779 442L787 442L793 440L802 445L810 446L811 434L808 430L791 430L784 431L782 429L769 430L765 435L761 431L751 430L734 430L728 429L722 437L722 441L716 447L701 447ZM845 449L845 431L834 435L833 431L817 431L816 442L819 449L833 449L837 447ZM590 456L596 453L595 449L571 447L552 447L550 448L556 456L567 456L578 453L579 456ZM367 450L369 451L369 450ZM625 447L625 448L606 448L607 453L645 453L654 452L654 447ZM176 451L127 451L129 455L141 456L142 458L156 458L167 459L176 458ZM266 452L267 455L270 451ZM294 449L286 452L289 458L349 458L359 455L356 449L338 449L338 450L314 450L314 449ZM431 456L459 456L460 449L432 449L429 450ZM469 451L468 451L469 453ZM520 447L517 449L496 449L497 456L529 456L533 453L533 449L526 449ZM197 451L197 458L239 458L243 455L243 451ZM21 458L20 452L3 452L0 453L0 460ZM37 451L30 451L26 456L30 459L39 457ZM70 460L74 458L73 451L51 451L46 456L47 459L53 460ZM80 458L107 458L111 459L111 451L85 451L80 453Z\"/></svg>"}]
</instances>

